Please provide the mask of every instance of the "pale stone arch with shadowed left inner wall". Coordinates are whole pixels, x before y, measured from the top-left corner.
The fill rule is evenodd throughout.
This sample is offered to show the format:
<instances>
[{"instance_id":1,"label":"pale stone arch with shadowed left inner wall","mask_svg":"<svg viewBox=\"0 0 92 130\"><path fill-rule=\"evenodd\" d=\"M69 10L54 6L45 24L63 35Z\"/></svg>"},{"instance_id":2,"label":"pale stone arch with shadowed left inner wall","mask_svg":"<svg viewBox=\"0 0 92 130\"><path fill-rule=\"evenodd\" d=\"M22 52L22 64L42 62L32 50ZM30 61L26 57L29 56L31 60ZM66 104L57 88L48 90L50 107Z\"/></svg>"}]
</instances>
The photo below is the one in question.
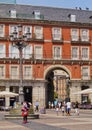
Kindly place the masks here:
<instances>
[{"instance_id":1,"label":"pale stone arch with shadowed left inner wall","mask_svg":"<svg viewBox=\"0 0 92 130\"><path fill-rule=\"evenodd\" d=\"M53 84L53 77L55 76L53 73L55 70L62 70L66 73L66 75L69 76L69 78L71 77L71 72L69 71L69 69L65 66L62 66L62 65L52 65L52 66L49 66L45 72L44 72L44 78L46 80L48 80L48 84L47 84L47 87L46 87L46 106L48 105L48 102L51 101L53 102L53 100L55 99L54 98L54 92L55 92L55 88L54 88L54 84ZM60 76L59 76L60 77ZM66 79L65 79L66 80ZM65 82L66 83L66 82ZM64 86L63 86L64 87ZM66 88L65 88L66 89ZM60 91L60 90L58 90ZM58 92L59 94L59 92Z\"/></svg>"}]
</instances>

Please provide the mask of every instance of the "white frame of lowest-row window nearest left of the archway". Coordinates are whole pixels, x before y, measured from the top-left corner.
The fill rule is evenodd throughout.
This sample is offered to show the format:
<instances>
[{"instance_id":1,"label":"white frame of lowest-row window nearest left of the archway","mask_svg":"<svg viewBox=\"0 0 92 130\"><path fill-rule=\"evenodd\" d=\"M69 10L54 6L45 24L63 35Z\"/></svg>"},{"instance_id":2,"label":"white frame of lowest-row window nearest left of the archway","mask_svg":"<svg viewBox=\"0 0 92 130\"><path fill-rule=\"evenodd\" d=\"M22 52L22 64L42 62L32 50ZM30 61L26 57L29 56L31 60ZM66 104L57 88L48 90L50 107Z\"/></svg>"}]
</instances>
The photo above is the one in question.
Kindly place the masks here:
<instances>
[{"instance_id":1,"label":"white frame of lowest-row window nearest left of the archway","mask_svg":"<svg viewBox=\"0 0 92 130\"><path fill-rule=\"evenodd\" d=\"M25 68L28 67L30 70L25 72ZM27 75L26 75L27 74ZM32 79L32 65L24 65L23 66L23 79Z\"/></svg>"}]
</instances>

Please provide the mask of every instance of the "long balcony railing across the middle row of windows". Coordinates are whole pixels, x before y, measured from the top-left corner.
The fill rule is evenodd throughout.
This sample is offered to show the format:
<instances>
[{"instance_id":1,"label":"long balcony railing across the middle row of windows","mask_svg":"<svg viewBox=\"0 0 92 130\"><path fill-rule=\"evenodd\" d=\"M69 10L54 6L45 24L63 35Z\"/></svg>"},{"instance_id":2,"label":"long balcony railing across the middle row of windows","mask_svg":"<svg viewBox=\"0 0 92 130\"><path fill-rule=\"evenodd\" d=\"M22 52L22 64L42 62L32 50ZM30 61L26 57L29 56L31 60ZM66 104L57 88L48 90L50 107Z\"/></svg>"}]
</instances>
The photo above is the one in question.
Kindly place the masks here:
<instances>
[{"instance_id":1,"label":"long balcony railing across the middle row of windows","mask_svg":"<svg viewBox=\"0 0 92 130\"><path fill-rule=\"evenodd\" d=\"M56 54L24 54L22 55L22 58L24 60L26 59L39 59L39 60L43 60L43 59L50 59L50 60L84 60L84 61L90 61L92 60L92 58L89 58L89 57L92 57L92 55L56 55ZM0 53L0 59L1 60L5 60L5 59L9 59L9 60L15 60L15 59L19 59L19 54L18 53L9 53L9 54L5 54L5 53Z\"/></svg>"}]
</instances>

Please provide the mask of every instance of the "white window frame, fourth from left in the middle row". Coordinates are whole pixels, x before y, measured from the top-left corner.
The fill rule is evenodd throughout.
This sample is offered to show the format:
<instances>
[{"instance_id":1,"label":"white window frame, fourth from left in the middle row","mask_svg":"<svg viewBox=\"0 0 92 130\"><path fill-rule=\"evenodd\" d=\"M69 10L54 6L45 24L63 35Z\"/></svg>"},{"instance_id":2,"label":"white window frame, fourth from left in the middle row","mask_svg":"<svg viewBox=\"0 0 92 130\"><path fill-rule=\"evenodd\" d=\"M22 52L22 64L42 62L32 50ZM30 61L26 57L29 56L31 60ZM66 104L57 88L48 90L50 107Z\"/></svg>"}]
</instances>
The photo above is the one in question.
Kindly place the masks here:
<instances>
[{"instance_id":1,"label":"white window frame, fourth from left in the middle row","mask_svg":"<svg viewBox=\"0 0 92 130\"><path fill-rule=\"evenodd\" d=\"M37 47L39 47L41 50L36 54ZM35 59L42 59L43 58L43 46L41 46L41 45L34 46L34 57L35 57Z\"/></svg>"}]
</instances>

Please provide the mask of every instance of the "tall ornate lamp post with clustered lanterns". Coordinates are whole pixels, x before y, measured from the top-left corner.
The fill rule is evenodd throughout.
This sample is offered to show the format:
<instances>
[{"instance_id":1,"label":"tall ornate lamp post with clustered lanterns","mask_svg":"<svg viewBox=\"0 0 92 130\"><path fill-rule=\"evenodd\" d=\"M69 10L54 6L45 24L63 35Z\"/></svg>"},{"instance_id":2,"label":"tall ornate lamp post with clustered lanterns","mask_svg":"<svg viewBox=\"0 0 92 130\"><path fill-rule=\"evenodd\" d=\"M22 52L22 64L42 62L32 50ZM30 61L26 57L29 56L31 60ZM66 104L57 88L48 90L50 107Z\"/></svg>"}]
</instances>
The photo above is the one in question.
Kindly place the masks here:
<instances>
[{"instance_id":1,"label":"tall ornate lamp post with clustered lanterns","mask_svg":"<svg viewBox=\"0 0 92 130\"><path fill-rule=\"evenodd\" d=\"M18 48L19 50L19 75L20 75L20 84L19 84L19 103L21 104L24 101L24 93L23 93L23 68L22 68L22 51L28 45L28 41L30 40L30 33L25 33L23 35L22 26L18 25L18 31L16 29L10 35L10 41L12 42L12 46Z\"/></svg>"}]
</instances>

